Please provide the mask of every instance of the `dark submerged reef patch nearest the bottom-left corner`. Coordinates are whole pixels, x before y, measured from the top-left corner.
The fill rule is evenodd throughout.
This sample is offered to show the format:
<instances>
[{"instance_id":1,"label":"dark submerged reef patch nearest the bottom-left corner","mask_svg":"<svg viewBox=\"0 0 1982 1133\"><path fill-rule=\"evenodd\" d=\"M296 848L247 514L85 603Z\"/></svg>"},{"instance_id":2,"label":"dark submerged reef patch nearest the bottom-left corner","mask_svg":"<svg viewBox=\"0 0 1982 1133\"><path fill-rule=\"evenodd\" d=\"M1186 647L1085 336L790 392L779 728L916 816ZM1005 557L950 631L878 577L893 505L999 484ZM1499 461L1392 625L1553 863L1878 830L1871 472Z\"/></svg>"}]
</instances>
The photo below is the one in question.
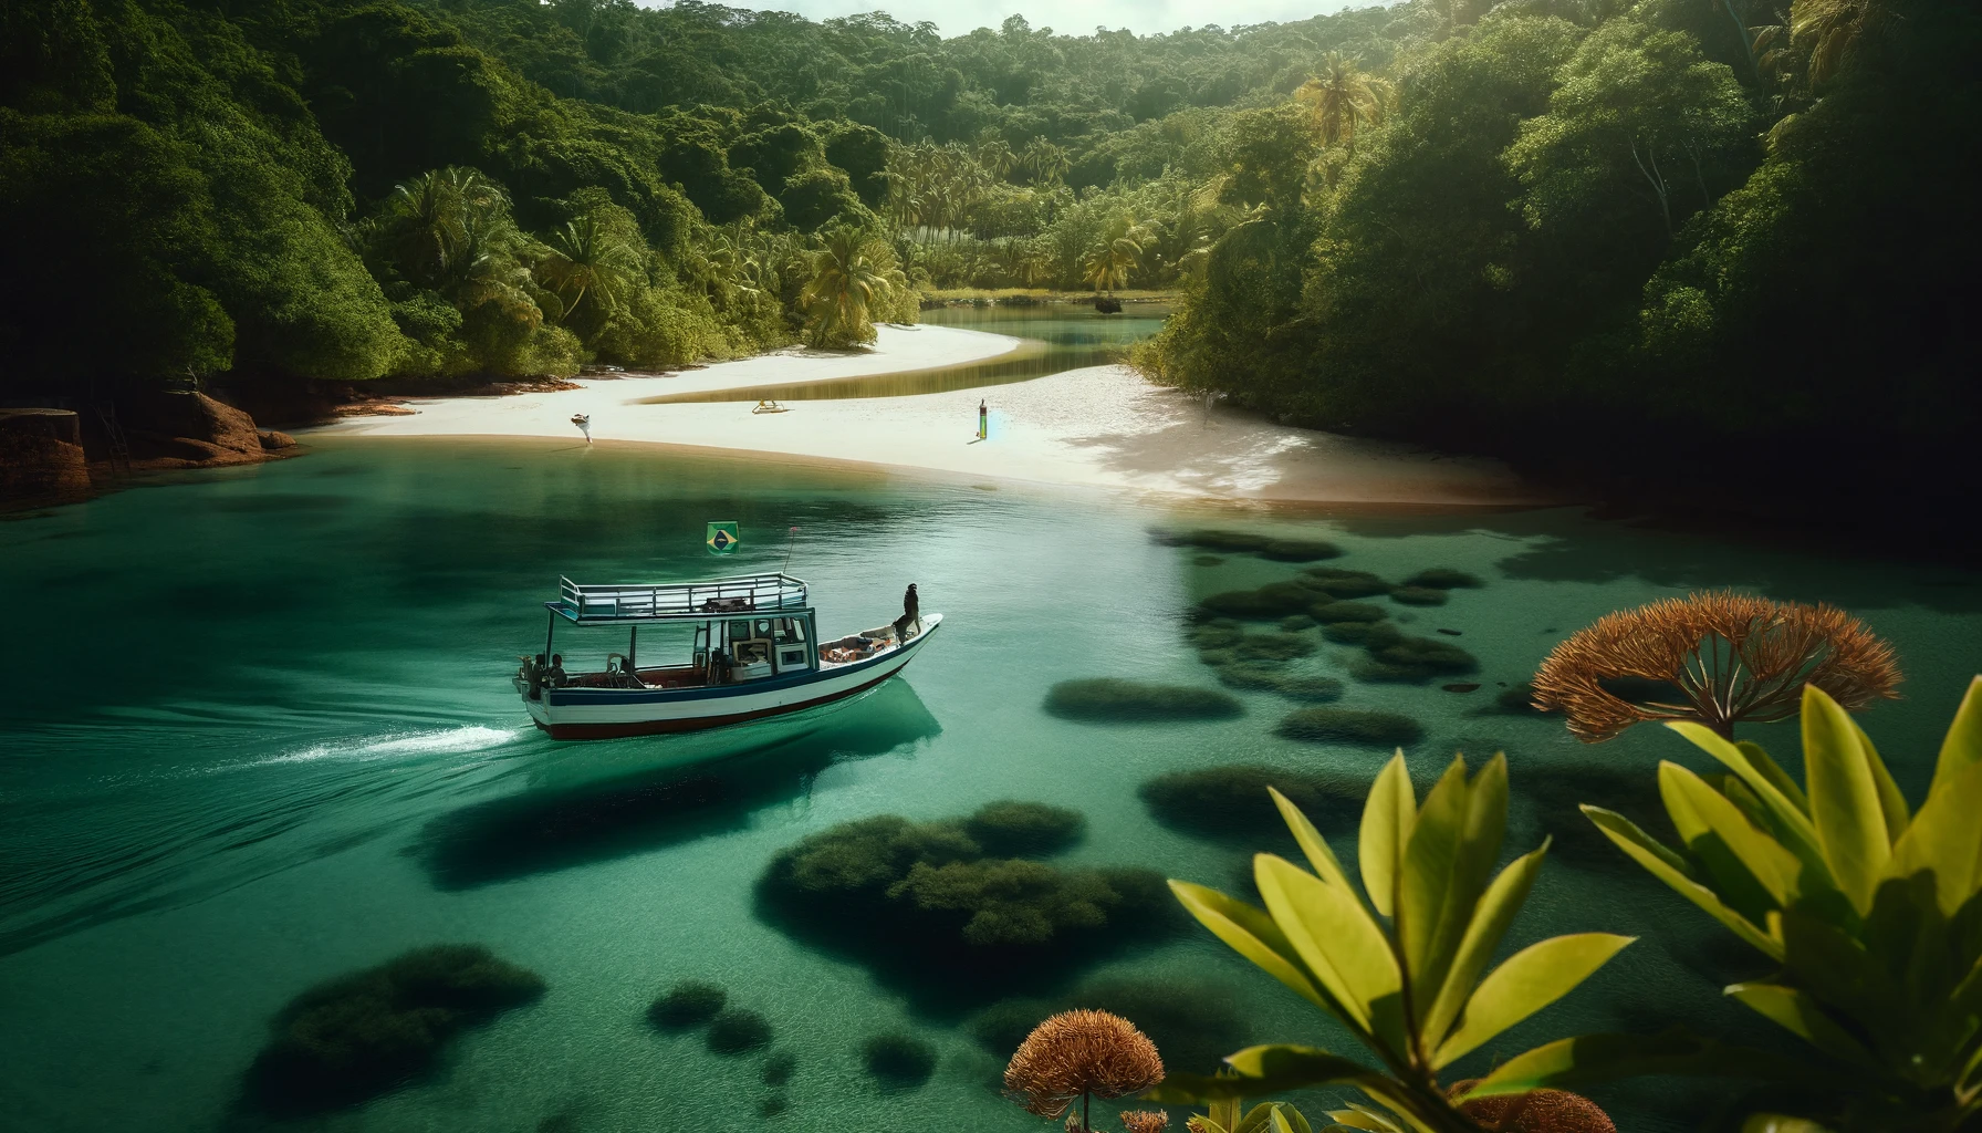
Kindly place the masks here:
<instances>
[{"instance_id":1,"label":"dark submerged reef patch nearest the bottom-left corner","mask_svg":"<svg viewBox=\"0 0 1982 1133\"><path fill-rule=\"evenodd\" d=\"M289 1000L250 1097L275 1115L355 1105L430 1070L456 1032L539 996L543 978L480 944L414 948Z\"/></svg>"}]
</instances>

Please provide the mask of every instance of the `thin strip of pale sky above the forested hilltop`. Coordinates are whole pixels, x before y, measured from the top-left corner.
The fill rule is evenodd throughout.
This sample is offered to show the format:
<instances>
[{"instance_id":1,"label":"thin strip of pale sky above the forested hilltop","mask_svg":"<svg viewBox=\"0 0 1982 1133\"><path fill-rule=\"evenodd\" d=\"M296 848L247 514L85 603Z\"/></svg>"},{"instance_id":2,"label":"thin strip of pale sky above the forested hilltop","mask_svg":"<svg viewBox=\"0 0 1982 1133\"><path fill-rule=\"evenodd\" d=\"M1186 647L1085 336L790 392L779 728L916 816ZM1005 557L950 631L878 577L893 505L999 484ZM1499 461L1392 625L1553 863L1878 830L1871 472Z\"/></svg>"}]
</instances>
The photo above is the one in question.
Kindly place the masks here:
<instances>
[{"instance_id":1,"label":"thin strip of pale sky above the forested hilltop","mask_svg":"<svg viewBox=\"0 0 1982 1133\"><path fill-rule=\"evenodd\" d=\"M660 8L664 0L640 0ZM716 0L729 8L763 8L797 12L813 20L852 16L856 12L886 12L904 24L924 20L941 28L943 36L963 36L973 28L997 28L1013 12L1033 28L1052 28L1068 36L1086 36L1094 28L1128 28L1132 32L1175 32L1219 24L1265 24L1306 20L1322 12L1348 8L1350 0ZM1358 0L1374 4L1376 0Z\"/></svg>"}]
</instances>

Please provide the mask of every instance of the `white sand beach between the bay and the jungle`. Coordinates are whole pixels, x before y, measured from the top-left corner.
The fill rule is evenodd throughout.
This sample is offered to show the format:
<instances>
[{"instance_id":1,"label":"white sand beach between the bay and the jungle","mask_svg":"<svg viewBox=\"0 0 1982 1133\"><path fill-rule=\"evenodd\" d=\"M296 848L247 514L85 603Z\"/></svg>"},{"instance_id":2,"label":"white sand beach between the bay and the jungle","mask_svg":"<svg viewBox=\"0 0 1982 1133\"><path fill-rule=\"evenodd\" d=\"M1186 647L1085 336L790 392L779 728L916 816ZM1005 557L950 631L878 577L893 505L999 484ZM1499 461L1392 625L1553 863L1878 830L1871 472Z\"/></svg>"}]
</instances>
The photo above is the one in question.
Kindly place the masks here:
<instances>
[{"instance_id":1,"label":"white sand beach between the bay and the jungle","mask_svg":"<svg viewBox=\"0 0 1982 1133\"><path fill-rule=\"evenodd\" d=\"M995 359L1023 339L959 327L880 327L872 351L789 349L674 375L583 379L581 389L513 397L408 399L406 417L351 417L315 433L369 437L573 437L757 450L961 476L1128 488L1199 498L1342 504L1546 502L1492 460L1274 425L1207 407L1100 365L1033 381L924 393L789 401L751 413L747 391ZM743 401L642 405L745 391ZM977 441L977 403L991 437Z\"/></svg>"}]
</instances>

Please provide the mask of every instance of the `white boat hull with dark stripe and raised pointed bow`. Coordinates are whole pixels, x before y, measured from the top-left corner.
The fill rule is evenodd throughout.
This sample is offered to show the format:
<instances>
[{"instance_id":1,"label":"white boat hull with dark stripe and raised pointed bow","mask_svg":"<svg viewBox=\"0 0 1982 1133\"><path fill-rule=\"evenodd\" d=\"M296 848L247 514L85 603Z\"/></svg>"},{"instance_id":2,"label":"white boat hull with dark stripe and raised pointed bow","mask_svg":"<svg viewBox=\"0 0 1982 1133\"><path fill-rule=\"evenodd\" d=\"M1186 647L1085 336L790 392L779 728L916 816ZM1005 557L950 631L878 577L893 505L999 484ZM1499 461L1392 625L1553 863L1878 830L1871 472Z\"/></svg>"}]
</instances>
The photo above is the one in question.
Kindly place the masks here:
<instances>
[{"instance_id":1,"label":"white boat hull with dark stripe and raised pointed bow","mask_svg":"<svg viewBox=\"0 0 1982 1133\"><path fill-rule=\"evenodd\" d=\"M727 728L805 712L856 696L906 667L936 635L943 615L922 619L922 633L866 661L825 663L815 671L716 689L543 689L523 696L531 720L553 740L608 740ZM521 689L519 689L521 691Z\"/></svg>"}]
</instances>

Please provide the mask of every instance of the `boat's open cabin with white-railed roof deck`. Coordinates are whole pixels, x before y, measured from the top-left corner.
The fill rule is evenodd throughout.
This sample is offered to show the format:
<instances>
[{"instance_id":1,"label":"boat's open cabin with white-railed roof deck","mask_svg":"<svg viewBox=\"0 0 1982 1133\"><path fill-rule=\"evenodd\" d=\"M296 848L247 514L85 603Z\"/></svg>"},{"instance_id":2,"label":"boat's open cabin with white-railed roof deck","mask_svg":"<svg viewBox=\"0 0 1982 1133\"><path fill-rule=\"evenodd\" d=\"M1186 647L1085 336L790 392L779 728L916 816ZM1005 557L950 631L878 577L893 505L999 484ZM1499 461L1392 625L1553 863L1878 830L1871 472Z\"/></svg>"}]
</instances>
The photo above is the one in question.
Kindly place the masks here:
<instances>
[{"instance_id":1,"label":"boat's open cabin with white-railed roof deck","mask_svg":"<svg viewBox=\"0 0 1982 1133\"><path fill-rule=\"evenodd\" d=\"M543 653L525 657L517 675L533 700L545 687L712 689L821 665L805 583L787 573L658 585L579 585L561 577L557 589L557 601L543 603L549 609ZM571 629L606 633L581 635L579 653ZM599 657L601 667L591 669L579 657Z\"/></svg>"}]
</instances>

